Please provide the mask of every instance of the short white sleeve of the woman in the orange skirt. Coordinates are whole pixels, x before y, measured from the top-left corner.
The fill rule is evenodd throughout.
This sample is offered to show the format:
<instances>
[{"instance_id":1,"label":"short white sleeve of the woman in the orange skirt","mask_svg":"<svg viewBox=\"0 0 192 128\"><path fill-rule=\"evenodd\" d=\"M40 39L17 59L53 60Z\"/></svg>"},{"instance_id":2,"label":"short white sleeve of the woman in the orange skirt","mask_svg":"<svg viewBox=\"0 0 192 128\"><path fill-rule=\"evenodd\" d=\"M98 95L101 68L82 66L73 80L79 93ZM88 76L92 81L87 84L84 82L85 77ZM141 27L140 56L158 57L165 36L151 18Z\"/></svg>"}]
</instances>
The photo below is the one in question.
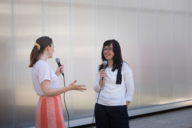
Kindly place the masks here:
<instances>
[{"instance_id":1,"label":"short white sleeve of the woman in the orange skirt","mask_svg":"<svg viewBox=\"0 0 192 128\"><path fill-rule=\"evenodd\" d=\"M51 81L51 70L49 65L43 64L39 67L38 79L40 84L45 80Z\"/></svg>"}]
</instances>

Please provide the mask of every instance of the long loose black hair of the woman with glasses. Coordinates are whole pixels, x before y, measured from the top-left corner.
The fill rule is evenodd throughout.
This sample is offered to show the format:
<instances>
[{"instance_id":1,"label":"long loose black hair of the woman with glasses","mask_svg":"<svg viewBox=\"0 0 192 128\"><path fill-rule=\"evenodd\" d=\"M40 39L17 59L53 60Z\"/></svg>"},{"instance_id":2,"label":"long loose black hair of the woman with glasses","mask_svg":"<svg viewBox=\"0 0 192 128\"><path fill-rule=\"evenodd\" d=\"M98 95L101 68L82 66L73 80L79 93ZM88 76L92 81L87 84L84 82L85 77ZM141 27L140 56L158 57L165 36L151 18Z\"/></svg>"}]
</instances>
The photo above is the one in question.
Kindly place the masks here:
<instances>
[{"instance_id":1,"label":"long loose black hair of the woman with glasses","mask_svg":"<svg viewBox=\"0 0 192 128\"><path fill-rule=\"evenodd\" d=\"M122 62L123 62L123 58L122 58L122 55L121 55L121 47L119 45L119 42L116 41L116 40L107 40L103 43L103 49L105 46L109 46L113 44L113 52L114 52L114 57L113 57L113 69L112 71L115 71L115 69L118 69L119 67L121 68L122 67ZM103 49L101 51L101 57L102 57L102 60L107 60L105 58L105 56L103 55ZM107 64L108 66L108 64ZM103 64L100 65L99 67L99 70L103 69Z\"/></svg>"}]
</instances>

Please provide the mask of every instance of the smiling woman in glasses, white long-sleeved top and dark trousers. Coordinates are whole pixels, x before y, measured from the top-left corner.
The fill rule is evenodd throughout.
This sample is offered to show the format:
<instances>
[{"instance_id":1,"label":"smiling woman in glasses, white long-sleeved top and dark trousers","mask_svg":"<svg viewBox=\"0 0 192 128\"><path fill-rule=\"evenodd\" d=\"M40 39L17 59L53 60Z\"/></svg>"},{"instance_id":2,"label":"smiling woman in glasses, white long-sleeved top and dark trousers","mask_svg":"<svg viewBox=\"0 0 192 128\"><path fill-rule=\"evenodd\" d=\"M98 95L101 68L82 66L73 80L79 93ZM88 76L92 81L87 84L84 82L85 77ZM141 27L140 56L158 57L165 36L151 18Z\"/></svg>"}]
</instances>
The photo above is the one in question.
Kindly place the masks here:
<instances>
[{"instance_id":1,"label":"smiling woman in glasses, white long-sleeved top and dark trousers","mask_svg":"<svg viewBox=\"0 0 192 128\"><path fill-rule=\"evenodd\" d=\"M95 105L96 127L129 128L127 106L134 94L132 70L123 61L121 48L116 40L104 42L101 56L108 64L106 69L103 69L102 64L99 66L94 83L98 101Z\"/></svg>"}]
</instances>

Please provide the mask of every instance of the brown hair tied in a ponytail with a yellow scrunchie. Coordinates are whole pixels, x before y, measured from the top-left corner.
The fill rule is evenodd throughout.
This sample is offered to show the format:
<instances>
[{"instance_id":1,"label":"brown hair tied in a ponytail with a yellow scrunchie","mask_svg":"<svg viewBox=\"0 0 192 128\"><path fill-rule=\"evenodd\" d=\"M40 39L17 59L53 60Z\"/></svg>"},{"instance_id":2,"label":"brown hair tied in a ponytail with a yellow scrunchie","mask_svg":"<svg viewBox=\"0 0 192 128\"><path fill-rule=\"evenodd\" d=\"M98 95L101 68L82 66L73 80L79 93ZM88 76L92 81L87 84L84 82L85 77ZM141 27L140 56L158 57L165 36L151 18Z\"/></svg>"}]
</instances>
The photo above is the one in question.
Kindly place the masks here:
<instances>
[{"instance_id":1,"label":"brown hair tied in a ponytail with a yellow scrunchie","mask_svg":"<svg viewBox=\"0 0 192 128\"><path fill-rule=\"evenodd\" d=\"M47 46L51 47L52 39L48 36L43 36L38 38L36 40L36 43L40 45L40 50L38 50L36 46L33 47L30 55L29 67L33 67L33 65L38 61L39 56L45 51L45 48Z\"/></svg>"}]
</instances>

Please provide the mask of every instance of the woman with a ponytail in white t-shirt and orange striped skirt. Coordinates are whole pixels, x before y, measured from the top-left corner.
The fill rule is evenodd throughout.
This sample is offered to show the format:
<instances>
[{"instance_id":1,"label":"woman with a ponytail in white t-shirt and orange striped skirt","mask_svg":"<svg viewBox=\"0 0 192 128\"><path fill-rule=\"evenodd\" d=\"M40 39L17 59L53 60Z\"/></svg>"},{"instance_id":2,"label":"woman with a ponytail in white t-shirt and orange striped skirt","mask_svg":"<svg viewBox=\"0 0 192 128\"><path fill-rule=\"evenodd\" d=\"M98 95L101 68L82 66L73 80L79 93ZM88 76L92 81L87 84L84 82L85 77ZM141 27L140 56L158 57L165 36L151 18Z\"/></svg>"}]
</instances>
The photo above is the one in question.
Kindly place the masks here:
<instances>
[{"instance_id":1,"label":"woman with a ponytail in white t-shirt and orange striped skirt","mask_svg":"<svg viewBox=\"0 0 192 128\"><path fill-rule=\"evenodd\" d=\"M56 72L46 62L52 58L54 44L47 36L36 40L30 55L31 76L34 89L39 97L36 111L36 128L65 128L60 94L70 90L84 91L85 85L76 85L76 80L67 87L59 88L58 76L63 66Z\"/></svg>"}]
</instances>

